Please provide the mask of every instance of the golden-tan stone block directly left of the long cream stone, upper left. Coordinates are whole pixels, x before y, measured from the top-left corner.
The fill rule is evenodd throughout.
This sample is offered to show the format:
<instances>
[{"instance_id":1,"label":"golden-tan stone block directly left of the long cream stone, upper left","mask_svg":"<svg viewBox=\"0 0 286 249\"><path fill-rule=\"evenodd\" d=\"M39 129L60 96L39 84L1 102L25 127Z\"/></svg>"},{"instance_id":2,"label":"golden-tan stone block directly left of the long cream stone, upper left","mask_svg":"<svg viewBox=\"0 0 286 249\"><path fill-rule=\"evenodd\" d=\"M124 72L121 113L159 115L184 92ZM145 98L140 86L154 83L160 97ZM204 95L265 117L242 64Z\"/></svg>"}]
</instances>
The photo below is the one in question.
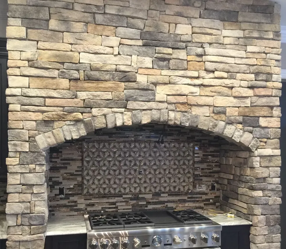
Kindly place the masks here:
<instances>
[{"instance_id":1,"label":"golden-tan stone block directly left of the long cream stone, upper left","mask_svg":"<svg viewBox=\"0 0 286 249\"><path fill-rule=\"evenodd\" d=\"M38 50L38 60L78 63L79 54L76 52Z\"/></svg>"}]
</instances>

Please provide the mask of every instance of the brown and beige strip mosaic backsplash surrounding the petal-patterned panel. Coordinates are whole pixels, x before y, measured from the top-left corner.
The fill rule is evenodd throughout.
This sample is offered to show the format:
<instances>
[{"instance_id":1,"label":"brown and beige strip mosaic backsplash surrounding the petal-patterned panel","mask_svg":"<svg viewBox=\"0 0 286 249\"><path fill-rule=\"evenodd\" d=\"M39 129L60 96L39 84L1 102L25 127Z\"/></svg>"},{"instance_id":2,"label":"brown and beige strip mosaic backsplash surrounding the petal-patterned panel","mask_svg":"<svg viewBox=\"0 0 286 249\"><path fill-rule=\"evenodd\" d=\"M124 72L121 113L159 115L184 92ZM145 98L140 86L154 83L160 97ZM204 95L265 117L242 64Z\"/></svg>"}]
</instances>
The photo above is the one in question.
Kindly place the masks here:
<instances>
[{"instance_id":1,"label":"brown and beige strip mosaic backsplash surrounding the petal-patterned panel","mask_svg":"<svg viewBox=\"0 0 286 249\"><path fill-rule=\"evenodd\" d=\"M149 148L150 150L150 146L155 147L158 145L157 141L160 134L162 134L162 128L163 125L150 124L136 127L101 129L96 130L95 134L85 136L82 139L50 148L50 214L53 216L72 216L92 211L130 211L136 209L173 207L190 207L193 209L219 208L219 191L211 190L211 187L216 186L218 183L218 174L220 172L220 138L217 136L205 134L196 129L187 129L176 126L166 125L166 130L164 133L164 144L161 145L160 148L162 150L165 150L166 148L169 150L168 146L170 145L175 147L193 147L193 150L188 149L187 154L183 154L183 156L181 155L182 158L185 157L185 159L189 160L185 160L185 162L183 162L184 160L179 160L181 159L180 156L170 156L165 161L160 159L161 162L154 161L154 156L151 156L148 160L154 163L154 166L156 167L162 163L162 166L158 167L157 169L158 172L160 172L162 175L166 172L168 175L170 172L170 170L164 171L166 164L170 162L171 166L174 166L177 163L178 165L176 165L174 168L176 168L178 172L180 171L180 173L176 174L176 176L182 175L182 177L177 177L176 179L174 178L174 183L176 186L184 186L186 183L188 184L188 186L185 186L187 189L178 188L177 191L173 190L176 189L175 185L173 189L168 189L168 184L165 184L168 181L168 177L161 177L164 179L163 185L165 186L161 190L154 188L153 191L153 189L151 190L150 186L148 191L146 188L144 190L139 189L138 191L135 191L136 189L133 191L131 188L129 188L129 190L127 189L127 191L126 188L123 188L116 192L116 187L114 186L112 188L108 188L109 193L104 193L106 189L104 190L103 188L103 193L101 192L100 188L98 188L98 190L96 190L97 193L95 193L93 191L95 191L96 186L99 186L99 184L96 185L93 183L93 185L91 184L92 187L90 191L93 193L85 193L84 186L87 185L84 183L85 178L83 176L87 176L88 174L85 173L84 169L88 168L89 166L85 166L85 160L83 160L83 158L87 158L84 156L84 154L85 152L90 151L90 149L87 150L87 145L91 147L100 147L102 143L105 143L109 146L111 144L113 144L112 146L116 146L116 143L117 146L119 146L119 144L121 144L121 146L124 144L127 146L126 143L128 143L128 146L135 146L135 144L137 144L137 146L145 145L146 149ZM106 145L104 145L104 147L106 147ZM101 150L98 148L92 149L92 152L89 152L90 159L87 161L92 161L93 159L91 158L92 156L94 157L94 153L100 154L100 151ZM191 155L190 152L193 152L193 155ZM137 153L142 154L143 150L138 150ZM176 153L179 153L177 148ZM191 156L193 156L193 161L190 159ZM137 157L132 157L134 159L128 160L134 162L134 165L137 165L137 163L140 164L140 162L142 162L142 160L138 160L140 162L135 163ZM110 163L104 165L104 160L102 160L103 156L96 156L95 158L98 158L98 167L94 167L95 162L92 162L91 165L93 166L91 167L93 173L89 173L93 175L95 174L96 170L103 170L104 168L108 168L110 165ZM158 157L158 160L159 158L160 157ZM177 161L175 162L174 160ZM127 167L127 163L129 162L125 161L125 163L123 163L121 166L119 165L120 167L117 167ZM144 167L147 167L147 163L143 163L143 165L145 165ZM142 168L142 173L144 170L143 165L140 167L140 169ZM189 166L185 167L184 165ZM170 169L169 166L167 168ZM191 168L193 168L192 176ZM185 171L187 174L183 174L184 170L187 170ZM132 174L133 172L131 172L130 175L134 177L134 174ZM102 175L102 173L99 175ZM139 175L140 174L137 176ZM148 174L144 172L143 176L148 176ZM117 177L118 176L116 176L115 179ZM187 179L184 177L188 177L190 179L187 181ZM128 179L128 177L125 178ZM94 179L94 177L91 177L91 179ZM142 177L142 179L144 179L144 181L142 181L141 185L146 186L144 185L146 184L145 181L147 181L146 177ZM156 177L153 179L156 179ZM169 177L169 179L172 179L172 177ZM214 186L212 186L212 184ZM169 186L171 186L171 184ZM65 189L65 195L63 197L59 196L59 187L64 187ZM112 193L112 191L115 193Z\"/></svg>"}]
</instances>

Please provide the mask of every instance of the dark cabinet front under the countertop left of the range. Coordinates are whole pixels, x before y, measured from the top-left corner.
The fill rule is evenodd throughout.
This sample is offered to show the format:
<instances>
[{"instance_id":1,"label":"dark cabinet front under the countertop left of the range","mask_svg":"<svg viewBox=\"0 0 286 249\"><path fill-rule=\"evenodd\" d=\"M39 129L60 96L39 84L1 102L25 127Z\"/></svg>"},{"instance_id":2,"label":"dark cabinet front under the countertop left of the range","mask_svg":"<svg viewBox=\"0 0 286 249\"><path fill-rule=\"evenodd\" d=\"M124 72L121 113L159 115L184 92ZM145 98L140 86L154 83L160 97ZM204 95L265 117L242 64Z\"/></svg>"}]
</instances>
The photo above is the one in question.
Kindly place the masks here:
<instances>
[{"instance_id":1,"label":"dark cabinet front under the countertop left of the range","mask_svg":"<svg viewBox=\"0 0 286 249\"><path fill-rule=\"evenodd\" d=\"M86 234L47 236L45 249L86 249Z\"/></svg>"}]
</instances>

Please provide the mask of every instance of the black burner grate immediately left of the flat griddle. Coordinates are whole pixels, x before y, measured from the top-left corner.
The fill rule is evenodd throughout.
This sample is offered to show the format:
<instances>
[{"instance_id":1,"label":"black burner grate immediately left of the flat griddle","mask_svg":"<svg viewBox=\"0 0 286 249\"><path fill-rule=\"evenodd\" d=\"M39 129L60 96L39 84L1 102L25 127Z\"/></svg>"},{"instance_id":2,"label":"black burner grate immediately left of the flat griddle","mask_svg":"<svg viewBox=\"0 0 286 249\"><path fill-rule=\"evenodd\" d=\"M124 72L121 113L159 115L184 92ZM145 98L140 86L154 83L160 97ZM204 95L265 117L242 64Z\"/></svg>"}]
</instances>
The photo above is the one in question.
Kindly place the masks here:
<instances>
[{"instance_id":1,"label":"black burner grate immediately left of the flat griddle","mask_svg":"<svg viewBox=\"0 0 286 249\"><path fill-rule=\"evenodd\" d=\"M152 220L144 213L121 213L118 214L124 227L154 226Z\"/></svg>"}]
</instances>

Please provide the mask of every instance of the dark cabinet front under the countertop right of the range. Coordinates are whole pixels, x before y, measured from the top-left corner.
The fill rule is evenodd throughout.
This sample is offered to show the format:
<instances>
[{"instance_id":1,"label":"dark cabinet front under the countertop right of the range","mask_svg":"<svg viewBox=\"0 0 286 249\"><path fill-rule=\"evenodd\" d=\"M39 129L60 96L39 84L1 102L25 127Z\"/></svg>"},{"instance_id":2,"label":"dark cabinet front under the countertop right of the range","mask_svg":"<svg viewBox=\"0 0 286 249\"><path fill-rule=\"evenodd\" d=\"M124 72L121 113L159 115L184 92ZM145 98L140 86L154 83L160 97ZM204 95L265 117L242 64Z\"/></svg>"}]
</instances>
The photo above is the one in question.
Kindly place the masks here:
<instances>
[{"instance_id":1,"label":"dark cabinet front under the countertop right of the range","mask_svg":"<svg viewBox=\"0 0 286 249\"><path fill-rule=\"evenodd\" d=\"M250 249L250 225L223 226L221 249Z\"/></svg>"}]
</instances>

